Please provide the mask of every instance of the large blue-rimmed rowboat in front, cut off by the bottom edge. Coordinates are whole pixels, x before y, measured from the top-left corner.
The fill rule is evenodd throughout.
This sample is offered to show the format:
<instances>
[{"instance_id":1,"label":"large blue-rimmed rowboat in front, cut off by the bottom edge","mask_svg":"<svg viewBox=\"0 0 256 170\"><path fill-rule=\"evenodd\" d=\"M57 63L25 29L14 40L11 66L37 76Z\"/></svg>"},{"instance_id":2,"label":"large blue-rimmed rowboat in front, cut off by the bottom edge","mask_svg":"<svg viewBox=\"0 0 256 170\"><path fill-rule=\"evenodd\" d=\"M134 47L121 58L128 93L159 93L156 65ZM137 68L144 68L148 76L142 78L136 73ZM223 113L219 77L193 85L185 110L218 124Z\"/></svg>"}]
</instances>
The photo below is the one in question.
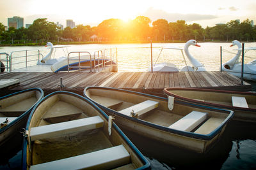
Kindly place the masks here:
<instances>
[{"instance_id":1,"label":"large blue-rimmed rowboat in front, cut off by the bottom edge","mask_svg":"<svg viewBox=\"0 0 256 170\"><path fill-rule=\"evenodd\" d=\"M23 169L148 169L148 160L95 104L72 92L49 94L26 125Z\"/></svg>"}]
</instances>

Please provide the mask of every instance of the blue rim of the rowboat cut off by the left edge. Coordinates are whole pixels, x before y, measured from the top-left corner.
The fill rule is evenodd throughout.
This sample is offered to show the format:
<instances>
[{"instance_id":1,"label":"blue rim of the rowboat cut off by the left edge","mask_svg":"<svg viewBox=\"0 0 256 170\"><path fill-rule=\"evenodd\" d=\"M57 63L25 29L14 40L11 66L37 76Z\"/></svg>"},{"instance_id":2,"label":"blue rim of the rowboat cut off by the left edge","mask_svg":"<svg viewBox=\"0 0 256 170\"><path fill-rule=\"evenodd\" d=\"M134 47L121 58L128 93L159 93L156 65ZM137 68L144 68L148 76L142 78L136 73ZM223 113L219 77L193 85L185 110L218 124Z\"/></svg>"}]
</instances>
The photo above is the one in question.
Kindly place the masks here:
<instances>
[{"instance_id":1,"label":"blue rim of the rowboat cut off by the left edge","mask_svg":"<svg viewBox=\"0 0 256 170\"><path fill-rule=\"evenodd\" d=\"M8 94L6 96L0 97L0 100L2 100L2 99L6 99L8 97L17 96L19 94L22 94L24 92L29 92L29 91L38 91L38 92L40 92L40 97L37 99L36 103L34 103L28 110L24 111L24 113L22 113L19 117L15 118L15 120L10 122L10 124L8 124L5 127L1 128L0 129L0 134L3 133L4 131L7 131L11 127L13 127L13 125L17 124L18 122L20 122L22 120L22 118L26 117L26 115L31 113L31 110L33 110L33 107L37 103L39 103L41 99L44 98L44 91L42 89L40 89L40 88L31 88L31 89L22 90L22 91L19 91L19 92L15 92L15 93Z\"/></svg>"}]
</instances>

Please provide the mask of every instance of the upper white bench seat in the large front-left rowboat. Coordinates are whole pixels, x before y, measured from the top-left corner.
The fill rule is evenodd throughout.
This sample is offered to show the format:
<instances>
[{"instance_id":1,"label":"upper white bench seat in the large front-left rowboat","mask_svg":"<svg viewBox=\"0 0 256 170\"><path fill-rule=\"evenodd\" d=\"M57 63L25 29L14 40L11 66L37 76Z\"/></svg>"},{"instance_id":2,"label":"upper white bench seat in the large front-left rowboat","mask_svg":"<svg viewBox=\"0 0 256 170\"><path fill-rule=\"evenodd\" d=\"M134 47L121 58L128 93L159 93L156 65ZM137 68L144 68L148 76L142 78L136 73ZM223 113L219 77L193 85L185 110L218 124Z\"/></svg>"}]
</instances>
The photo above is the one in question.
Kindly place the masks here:
<instances>
[{"instance_id":1,"label":"upper white bench seat in the large front-left rowboat","mask_svg":"<svg viewBox=\"0 0 256 170\"><path fill-rule=\"evenodd\" d=\"M61 122L58 124L43 125L38 127L31 127L30 139L31 141L63 136L74 132L87 131L103 127L104 121L99 116L81 118L78 120L71 120Z\"/></svg>"}]
</instances>

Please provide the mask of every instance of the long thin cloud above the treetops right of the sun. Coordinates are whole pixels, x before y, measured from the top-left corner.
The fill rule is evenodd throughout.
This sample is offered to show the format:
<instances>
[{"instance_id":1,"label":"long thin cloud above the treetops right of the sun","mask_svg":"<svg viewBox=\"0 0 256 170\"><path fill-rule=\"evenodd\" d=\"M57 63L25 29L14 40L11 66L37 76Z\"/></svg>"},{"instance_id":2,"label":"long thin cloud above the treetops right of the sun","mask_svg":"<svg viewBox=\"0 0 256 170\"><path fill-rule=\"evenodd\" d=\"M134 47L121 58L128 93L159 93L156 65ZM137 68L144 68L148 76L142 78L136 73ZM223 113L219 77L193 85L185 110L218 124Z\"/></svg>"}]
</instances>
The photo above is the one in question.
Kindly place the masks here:
<instances>
[{"instance_id":1,"label":"long thin cloud above the treetops right of the sun","mask_svg":"<svg viewBox=\"0 0 256 170\"><path fill-rule=\"evenodd\" d=\"M145 17L150 18L153 22L157 19L165 19L168 22L176 22L177 20L185 20L186 22L196 21L196 20L211 20L213 18L218 18L214 15L200 15L196 13L181 14L181 13L168 13L163 10L157 10L152 7L148 8L147 11L141 13Z\"/></svg>"}]
</instances>

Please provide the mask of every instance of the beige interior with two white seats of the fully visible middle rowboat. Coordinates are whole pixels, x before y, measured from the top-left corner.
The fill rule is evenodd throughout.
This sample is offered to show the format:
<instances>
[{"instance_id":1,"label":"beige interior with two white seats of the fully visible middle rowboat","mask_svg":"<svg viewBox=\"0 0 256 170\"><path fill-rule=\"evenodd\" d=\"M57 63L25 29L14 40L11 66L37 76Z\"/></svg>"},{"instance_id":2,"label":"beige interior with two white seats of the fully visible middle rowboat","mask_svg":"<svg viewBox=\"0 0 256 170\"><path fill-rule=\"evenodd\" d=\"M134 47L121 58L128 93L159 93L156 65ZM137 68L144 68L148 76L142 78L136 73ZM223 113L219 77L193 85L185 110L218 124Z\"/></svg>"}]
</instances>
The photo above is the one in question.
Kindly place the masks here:
<instances>
[{"instance_id":1,"label":"beige interior with two white seats of the fully visible middle rowboat","mask_svg":"<svg viewBox=\"0 0 256 170\"><path fill-rule=\"evenodd\" d=\"M228 114L219 111L204 110L177 103L170 111L166 100L118 90L87 89L86 96L119 113L163 127L198 134L211 133L228 117ZM154 101L157 104L151 103L150 105L147 101Z\"/></svg>"}]
</instances>

